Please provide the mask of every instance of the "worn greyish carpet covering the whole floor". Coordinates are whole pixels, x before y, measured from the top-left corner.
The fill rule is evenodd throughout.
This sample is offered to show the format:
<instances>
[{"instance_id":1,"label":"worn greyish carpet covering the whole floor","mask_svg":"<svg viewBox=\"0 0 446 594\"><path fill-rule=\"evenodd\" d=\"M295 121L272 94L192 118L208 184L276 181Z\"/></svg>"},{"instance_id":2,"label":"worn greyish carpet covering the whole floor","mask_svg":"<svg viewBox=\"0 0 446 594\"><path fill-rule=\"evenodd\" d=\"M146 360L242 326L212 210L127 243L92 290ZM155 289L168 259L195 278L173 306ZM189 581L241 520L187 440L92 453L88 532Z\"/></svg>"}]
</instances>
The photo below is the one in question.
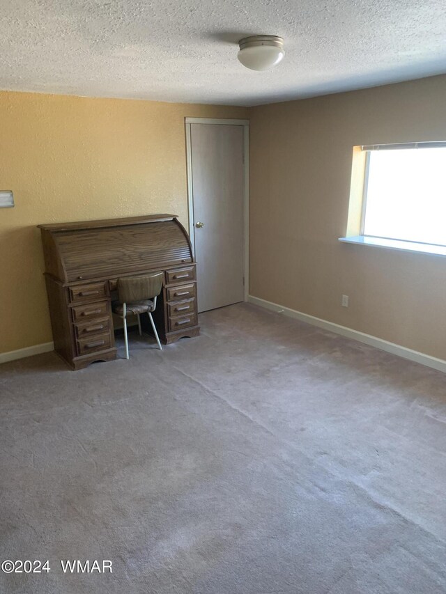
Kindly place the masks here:
<instances>
[{"instance_id":1,"label":"worn greyish carpet covering the whole floor","mask_svg":"<svg viewBox=\"0 0 446 594\"><path fill-rule=\"evenodd\" d=\"M444 594L446 375L249 304L200 323L0 367L0 561L51 568L1 593Z\"/></svg>"}]
</instances>

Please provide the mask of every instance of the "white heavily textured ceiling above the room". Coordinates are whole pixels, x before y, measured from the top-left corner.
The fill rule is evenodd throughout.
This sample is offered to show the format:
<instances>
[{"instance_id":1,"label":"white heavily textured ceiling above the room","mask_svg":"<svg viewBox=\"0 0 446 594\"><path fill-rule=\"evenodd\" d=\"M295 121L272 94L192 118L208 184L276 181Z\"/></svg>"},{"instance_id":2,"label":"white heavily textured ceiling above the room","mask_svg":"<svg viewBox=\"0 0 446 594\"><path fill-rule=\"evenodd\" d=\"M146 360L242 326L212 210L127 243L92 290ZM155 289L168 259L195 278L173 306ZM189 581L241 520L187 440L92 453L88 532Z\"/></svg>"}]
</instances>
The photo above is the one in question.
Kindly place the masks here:
<instances>
[{"instance_id":1,"label":"white heavily textured ceiling above the room","mask_svg":"<svg viewBox=\"0 0 446 594\"><path fill-rule=\"evenodd\" d=\"M446 72L445 0L0 0L0 88L254 105ZM271 72L238 39L282 36Z\"/></svg>"}]
</instances>

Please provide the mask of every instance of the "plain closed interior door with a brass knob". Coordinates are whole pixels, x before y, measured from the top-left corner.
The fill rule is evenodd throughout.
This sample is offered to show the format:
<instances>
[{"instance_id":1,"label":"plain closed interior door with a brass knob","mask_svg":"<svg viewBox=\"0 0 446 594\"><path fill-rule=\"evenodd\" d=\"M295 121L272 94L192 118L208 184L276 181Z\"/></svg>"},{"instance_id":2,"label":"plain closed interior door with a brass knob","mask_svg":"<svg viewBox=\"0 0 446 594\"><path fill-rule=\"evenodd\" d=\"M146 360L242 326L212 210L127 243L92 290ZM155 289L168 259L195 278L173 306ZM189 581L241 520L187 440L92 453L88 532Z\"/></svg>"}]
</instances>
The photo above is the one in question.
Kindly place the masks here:
<instances>
[{"instance_id":1,"label":"plain closed interior door with a brass knob","mask_svg":"<svg viewBox=\"0 0 446 594\"><path fill-rule=\"evenodd\" d=\"M244 297L243 125L190 124L189 173L198 307L207 311Z\"/></svg>"}]
</instances>

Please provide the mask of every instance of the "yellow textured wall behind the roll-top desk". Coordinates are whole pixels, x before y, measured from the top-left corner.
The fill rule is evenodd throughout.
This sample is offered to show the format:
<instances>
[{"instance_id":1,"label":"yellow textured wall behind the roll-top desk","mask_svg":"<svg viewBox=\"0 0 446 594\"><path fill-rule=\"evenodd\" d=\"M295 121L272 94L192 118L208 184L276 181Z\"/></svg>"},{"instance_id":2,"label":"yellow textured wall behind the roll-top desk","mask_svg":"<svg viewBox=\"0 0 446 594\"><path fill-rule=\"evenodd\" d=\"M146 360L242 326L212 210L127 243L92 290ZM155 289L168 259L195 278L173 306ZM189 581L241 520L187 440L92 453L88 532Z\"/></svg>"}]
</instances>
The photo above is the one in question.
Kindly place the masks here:
<instances>
[{"instance_id":1,"label":"yellow textured wall behind the roll-top desk","mask_svg":"<svg viewBox=\"0 0 446 594\"><path fill-rule=\"evenodd\" d=\"M0 93L0 352L52 340L39 223L172 212L187 225L185 116L210 105Z\"/></svg>"}]
</instances>

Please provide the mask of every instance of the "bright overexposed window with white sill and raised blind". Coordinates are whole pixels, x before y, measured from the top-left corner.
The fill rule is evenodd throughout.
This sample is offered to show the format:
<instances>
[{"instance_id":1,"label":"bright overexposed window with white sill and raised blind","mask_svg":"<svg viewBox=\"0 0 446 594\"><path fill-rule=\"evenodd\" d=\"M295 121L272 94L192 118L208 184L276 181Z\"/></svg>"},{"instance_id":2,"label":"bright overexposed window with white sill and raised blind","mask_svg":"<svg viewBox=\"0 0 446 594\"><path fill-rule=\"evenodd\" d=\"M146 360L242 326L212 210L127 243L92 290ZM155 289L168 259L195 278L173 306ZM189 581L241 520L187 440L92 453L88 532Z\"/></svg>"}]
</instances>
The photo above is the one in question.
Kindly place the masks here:
<instances>
[{"instance_id":1,"label":"bright overexposed window with white sill and raised blind","mask_svg":"<svg viewBox=\"0 0 446 594\"><path fill-rule=\"evenodd\" d=\"M359 229L341 240L446 254L446 142L355 149L362 153L356 158L362 196L358 208L351 194L349 219L352 208L353 217L360 213ZM358 187L356 182L356 192Z\"/></svg>"}]
</instances>

